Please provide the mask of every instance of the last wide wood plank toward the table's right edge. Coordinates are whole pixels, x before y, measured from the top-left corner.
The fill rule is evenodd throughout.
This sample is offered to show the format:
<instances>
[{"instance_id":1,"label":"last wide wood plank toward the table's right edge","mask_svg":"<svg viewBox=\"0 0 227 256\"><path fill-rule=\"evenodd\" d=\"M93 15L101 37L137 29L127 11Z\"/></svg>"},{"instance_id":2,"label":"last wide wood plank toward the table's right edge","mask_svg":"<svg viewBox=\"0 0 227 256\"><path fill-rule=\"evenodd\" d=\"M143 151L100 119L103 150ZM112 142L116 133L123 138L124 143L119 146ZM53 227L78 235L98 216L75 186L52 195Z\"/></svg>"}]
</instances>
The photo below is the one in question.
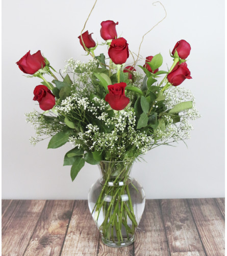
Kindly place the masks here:
<instances>
[{"instance_id":1,"label":"last wide wood plank toward the table's right edge","mask_svg":"<svg viewBox=\"0 0 227 256\"><path fill-rule=\"evenodd\" d=\"M188 199L207 256L224 255L224 219L213 198Z\"/></svg>"}]
</instances>

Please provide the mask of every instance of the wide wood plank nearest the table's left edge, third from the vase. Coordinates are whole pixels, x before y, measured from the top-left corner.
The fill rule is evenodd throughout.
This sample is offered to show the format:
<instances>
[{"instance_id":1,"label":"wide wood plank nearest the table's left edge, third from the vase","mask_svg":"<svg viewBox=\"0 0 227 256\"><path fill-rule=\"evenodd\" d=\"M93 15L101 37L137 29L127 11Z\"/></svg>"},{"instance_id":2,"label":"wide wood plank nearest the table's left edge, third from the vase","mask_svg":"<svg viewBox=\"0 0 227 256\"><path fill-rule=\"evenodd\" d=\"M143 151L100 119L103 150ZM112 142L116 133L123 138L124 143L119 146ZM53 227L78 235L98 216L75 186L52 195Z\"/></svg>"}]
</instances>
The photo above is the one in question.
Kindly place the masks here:
<instances>
[{"instance_id":1,"label":"wide wood plank nearest the table's left edge, third from the vase","mask_svg":"<svg viewBox=\"0 0 227 256\"><path fill-rule=\"evenodd\" d=\"M45 200L13 200L7 210L11 215L3 219L2 255L23 255L44 204Z\"/></svg>"}]
</instances>

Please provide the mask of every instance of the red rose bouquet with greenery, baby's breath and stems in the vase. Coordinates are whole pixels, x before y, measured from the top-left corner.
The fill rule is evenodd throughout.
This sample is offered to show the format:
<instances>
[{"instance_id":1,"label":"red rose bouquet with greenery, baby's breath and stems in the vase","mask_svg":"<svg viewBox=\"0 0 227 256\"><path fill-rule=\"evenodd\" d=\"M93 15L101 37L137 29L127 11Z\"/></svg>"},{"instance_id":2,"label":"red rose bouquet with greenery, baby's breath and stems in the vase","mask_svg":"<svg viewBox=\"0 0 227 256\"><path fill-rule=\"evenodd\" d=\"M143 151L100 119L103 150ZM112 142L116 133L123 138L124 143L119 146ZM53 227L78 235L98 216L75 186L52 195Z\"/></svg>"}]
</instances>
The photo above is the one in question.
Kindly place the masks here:
<instances>
[{"instance_id":1,"label":"red rose bouquet with greenery, baby's breath and stems in the vase","mask_svg":"<svg viewBox=\"0 0 227 256\"><path fill-rule=\"evenodd\" d=\"M59 73L61 80L40 51L32 55L29 51L17 65L30 77L42 79L34 89L33 100L38 101L44 112L26 114L27 121L36 129L37 136L31 143L46 137L51 137L48 148L72 143L72 150L64 157L64 165L71 166L72 181L85 162L103 168L105 182L92 214L97 223L104 209L105 217L99 229L109 240L115 230L116 241L122 242L121 226L129 237L138 225L126 184L132 164L112 177L111 171L104 169L103 161L132 163L157 146L184 141L192 130L189 120L198 118L199 113L193 94L179 87L185 79L192 78L186 63L190 44L185 40L176 42L170 53L173 63L168 71L160 70L163 63L160 53L147 56L143 66L136 66L138 54L137 59L133 57L134 62L126 66L129 44L125 38L117 37L116 25L112 20L101 23L102 45L107 46L108 57L103 53L96 56L98 44L92 34L81 33L80 44L92 58L87 63L69 59L63 70L65 75ZM138 72L137 67L144 74ZM47 75L51 81L47 81ZM108 186L109 182L115 184L120 180L124 181L122 187ZM128 203L122 199L123 194L127 195ZM111 196L108 204L105 195Z\"/></svg>"}]
</instances>

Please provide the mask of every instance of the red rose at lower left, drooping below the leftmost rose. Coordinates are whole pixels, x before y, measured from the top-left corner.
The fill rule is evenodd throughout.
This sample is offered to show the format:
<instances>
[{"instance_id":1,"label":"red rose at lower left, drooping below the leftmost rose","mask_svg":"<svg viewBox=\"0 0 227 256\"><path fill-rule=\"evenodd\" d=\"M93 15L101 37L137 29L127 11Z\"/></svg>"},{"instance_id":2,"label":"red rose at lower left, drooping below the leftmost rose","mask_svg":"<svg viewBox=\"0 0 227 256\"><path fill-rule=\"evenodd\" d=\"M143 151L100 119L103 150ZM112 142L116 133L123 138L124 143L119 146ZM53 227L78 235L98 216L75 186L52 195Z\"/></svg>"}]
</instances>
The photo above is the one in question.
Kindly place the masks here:
<instances>
[{"instance_id":1,"label":"red rose at lower left, drooping below the leftmost rose","mask_svg":"<svg viewBox=\"0 0 227 256\"><path fill-rule=\"evenodd\" d=\"M36 86L33 100L39 102L41 110L51 110L55 105L55 96L46 86Z\"/></svg>"}]
</instances>

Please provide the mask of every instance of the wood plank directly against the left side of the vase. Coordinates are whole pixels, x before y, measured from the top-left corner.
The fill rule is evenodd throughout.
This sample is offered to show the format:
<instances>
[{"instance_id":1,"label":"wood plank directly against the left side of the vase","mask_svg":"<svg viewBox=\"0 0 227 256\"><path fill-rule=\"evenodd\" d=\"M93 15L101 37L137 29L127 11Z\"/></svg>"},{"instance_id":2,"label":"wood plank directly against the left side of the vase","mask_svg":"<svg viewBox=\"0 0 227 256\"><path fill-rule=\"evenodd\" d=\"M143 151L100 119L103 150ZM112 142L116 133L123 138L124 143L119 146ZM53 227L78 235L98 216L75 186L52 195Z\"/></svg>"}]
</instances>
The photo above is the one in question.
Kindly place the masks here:
<instances>
[{"instance_id":1,"label":"wood plank directly against the left side of the vase","mask_svg":"<svg viewBox=\"0 0 227 256\"><path fill-rule=\"evenodd\" d=\"M97 255L98 238L87 200L76 200L61 255Z\"/></svg>"}]
</instances>

